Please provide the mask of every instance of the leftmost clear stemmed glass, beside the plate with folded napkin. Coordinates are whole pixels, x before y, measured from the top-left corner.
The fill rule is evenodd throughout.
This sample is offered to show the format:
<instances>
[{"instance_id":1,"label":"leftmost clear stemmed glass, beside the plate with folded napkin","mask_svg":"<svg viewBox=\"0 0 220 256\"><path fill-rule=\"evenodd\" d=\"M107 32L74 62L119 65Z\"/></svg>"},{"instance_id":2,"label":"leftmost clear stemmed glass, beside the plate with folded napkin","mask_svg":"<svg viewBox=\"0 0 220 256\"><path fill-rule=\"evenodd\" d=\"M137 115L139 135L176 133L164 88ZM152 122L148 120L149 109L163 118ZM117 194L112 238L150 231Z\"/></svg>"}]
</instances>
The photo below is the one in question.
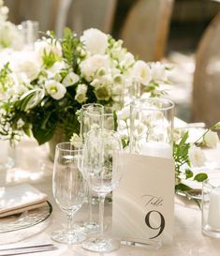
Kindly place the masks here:
<instances>
[{"instance_id":1,"label":"leftmost clear stemmed glass, beside the plate with folded napkin","mask_svg":"<svg viewBox=\"0 0 220 256\"><path fill-rule=\"evenodd\" d=\"M86 193L86 183L79 168L81 149L71 143L56 145L52 175L52 192L56 203L66 212L66 229L51 233L51 238L65 244L79 244L85 240L84 233L73 229L72 218L81 208Z\"/></svg>"}]
</instances>

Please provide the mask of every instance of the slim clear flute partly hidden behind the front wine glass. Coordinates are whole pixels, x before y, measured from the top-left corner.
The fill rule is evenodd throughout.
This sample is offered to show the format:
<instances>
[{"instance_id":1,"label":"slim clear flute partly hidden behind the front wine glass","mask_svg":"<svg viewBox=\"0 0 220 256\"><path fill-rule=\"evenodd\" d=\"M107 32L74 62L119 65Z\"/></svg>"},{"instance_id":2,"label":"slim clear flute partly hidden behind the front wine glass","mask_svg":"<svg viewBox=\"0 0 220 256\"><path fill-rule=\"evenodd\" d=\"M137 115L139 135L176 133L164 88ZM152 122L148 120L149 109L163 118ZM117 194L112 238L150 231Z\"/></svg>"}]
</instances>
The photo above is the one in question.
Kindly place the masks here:
<instances>
[{"instance_id":1,"label":"slim clear flute partly hidden behind the front wine glass","mask_svg":"<svg viewBox=\"0 0 220 256\"><path fill-rule=\"evenodd\" d=\"M97 103L84 104L81 107L81 138L85 142L87 133L95 128L102 128L104 107ZM89 187L87 180L87 185ZM88 218L86 221L79 223L81 231L85 233L96 233L99 230L99 225L93 219L93 195L90 188L88 188Z\"/></svg>"}]
</instances>

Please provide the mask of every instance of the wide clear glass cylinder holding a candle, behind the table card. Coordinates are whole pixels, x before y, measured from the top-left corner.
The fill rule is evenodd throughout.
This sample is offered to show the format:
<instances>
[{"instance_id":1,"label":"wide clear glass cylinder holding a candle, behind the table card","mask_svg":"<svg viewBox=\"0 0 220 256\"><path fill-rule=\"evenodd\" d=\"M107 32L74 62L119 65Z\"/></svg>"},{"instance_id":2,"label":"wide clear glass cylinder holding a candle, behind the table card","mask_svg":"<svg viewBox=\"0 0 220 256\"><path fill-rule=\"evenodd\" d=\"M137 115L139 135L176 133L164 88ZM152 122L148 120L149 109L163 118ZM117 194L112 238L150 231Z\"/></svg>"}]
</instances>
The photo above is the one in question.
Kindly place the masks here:
<instances>
[{"instance_id":1,"label":"wide clear glass cylinder holding a candle, behind the table card","mask_svg":"<svg viewBox=\"0 0 220 256\"><path fill-rule=\"evenodd\" d=\"M130 106L130 152L171 158L174 103L167 98L141 98Z\"/></svg>"}]
</instances>

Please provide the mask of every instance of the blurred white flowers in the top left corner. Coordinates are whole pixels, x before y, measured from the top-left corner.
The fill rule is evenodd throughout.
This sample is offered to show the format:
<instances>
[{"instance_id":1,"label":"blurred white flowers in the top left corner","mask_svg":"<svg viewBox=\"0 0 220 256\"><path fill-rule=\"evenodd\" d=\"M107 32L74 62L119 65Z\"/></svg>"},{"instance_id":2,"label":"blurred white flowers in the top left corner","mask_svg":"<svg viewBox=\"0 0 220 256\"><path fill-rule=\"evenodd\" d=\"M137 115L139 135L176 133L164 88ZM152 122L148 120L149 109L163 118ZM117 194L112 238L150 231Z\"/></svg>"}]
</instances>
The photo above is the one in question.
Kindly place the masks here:
<instances>
[{"instance_id":1,"label":"blurred white flowers in the top left corner","mask_svg":"<svg viewBox=\"0 0 220 256\"><path fill-rule=\"evenodd\" d=\"M21 50L22 33L14 23L7 21L8 8L0 0L0 51L6 48Z\"/></svg>"}]
</instances>

